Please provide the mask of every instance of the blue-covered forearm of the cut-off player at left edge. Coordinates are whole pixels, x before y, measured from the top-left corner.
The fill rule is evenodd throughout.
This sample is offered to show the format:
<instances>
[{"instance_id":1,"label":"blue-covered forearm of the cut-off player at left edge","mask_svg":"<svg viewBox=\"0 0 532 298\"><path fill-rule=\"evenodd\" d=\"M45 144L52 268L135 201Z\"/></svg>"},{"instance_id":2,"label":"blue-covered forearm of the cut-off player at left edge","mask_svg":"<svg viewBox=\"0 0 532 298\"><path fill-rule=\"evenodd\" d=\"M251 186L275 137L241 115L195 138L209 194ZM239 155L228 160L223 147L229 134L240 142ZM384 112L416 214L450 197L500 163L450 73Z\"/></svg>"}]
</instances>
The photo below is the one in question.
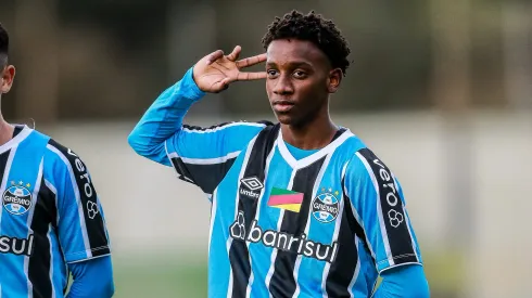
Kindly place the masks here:
<instances>
[{"instance_id":1,"label":"blue-covered forearm of the cut-off player at left edge","mask_svg":"<svg viewBox=\"0 0 532 298\"><path fill-rule=\"evenodd\" d=\"M113 267L110 256L71 263L68 269L74 283L66 298L113 297Z\"/></svg>"}]
</instances>

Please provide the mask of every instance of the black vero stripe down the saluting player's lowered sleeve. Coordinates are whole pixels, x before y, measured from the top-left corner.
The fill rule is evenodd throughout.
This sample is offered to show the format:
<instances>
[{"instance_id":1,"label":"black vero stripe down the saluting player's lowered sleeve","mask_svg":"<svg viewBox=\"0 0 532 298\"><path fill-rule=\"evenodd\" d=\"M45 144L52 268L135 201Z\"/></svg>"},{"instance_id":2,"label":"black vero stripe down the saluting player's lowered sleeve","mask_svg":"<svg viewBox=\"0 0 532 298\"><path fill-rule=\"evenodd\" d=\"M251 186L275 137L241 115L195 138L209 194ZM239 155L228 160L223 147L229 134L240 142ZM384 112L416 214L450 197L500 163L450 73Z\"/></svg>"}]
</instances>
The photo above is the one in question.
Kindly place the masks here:
<instances>
[{"instance_id":1,"label":"black vero stripe down the saluting player's lowered sleeve","mask_svg":"<svg viewBox=\"0 0 532 298\"><path fill-rule=\"evenodd\" d=\"M370 166L370 174L375 176L379 187L382 219L394 263L417 262L403 202L392 172L369 148L358 152Z\"/></svg>"}]
</instances>

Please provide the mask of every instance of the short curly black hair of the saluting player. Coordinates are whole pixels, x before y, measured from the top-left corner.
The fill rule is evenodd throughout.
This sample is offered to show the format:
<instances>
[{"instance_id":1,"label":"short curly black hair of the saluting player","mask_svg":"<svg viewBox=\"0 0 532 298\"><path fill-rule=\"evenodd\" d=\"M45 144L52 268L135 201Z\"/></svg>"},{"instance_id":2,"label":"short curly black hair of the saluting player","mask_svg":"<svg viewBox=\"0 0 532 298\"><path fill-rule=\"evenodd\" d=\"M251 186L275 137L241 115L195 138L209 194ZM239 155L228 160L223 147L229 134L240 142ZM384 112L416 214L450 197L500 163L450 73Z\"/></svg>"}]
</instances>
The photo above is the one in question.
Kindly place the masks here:
<instances>
[{"instance_id":1,"label":"short curly black hair of the saluting player","mask_svg":"<svg viewBox=\"0 0 532 298\"><path fill-rule=\"evenodd\" d=\"M316 44L329 57L332 67L340 68L345 76L351 53L350 46L342 33L331 20L324 18L320 14L311 11L304 15L293 10L284 16L276 17L268 26L268 31L263 37L264 49L276 39L294 38L311 41Z\"/></svg>"}]
</instances>

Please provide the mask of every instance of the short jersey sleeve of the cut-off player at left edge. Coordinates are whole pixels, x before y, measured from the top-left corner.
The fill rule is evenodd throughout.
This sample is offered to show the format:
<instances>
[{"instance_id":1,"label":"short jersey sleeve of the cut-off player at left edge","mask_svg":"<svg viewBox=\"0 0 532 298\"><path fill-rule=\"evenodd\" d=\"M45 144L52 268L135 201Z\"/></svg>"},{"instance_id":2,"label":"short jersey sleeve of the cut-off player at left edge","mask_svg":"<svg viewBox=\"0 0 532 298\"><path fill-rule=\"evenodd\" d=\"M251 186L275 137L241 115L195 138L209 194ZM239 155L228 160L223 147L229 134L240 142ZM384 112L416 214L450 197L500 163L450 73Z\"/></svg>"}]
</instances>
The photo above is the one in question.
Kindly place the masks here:
<instances>
[{"instance_id":1,"label":"short jersey sleeve of the cut-off player at left edge","mask_svg":"<svg viewBox=\"0 0 532 298\"><path fill-rule=\"evenodd\" d=\"M48 147L59 157L51 183L56 192L56 229L66 262L110 255L103 208L86 164L53 140Z\"/></svg>"}]
</instances>

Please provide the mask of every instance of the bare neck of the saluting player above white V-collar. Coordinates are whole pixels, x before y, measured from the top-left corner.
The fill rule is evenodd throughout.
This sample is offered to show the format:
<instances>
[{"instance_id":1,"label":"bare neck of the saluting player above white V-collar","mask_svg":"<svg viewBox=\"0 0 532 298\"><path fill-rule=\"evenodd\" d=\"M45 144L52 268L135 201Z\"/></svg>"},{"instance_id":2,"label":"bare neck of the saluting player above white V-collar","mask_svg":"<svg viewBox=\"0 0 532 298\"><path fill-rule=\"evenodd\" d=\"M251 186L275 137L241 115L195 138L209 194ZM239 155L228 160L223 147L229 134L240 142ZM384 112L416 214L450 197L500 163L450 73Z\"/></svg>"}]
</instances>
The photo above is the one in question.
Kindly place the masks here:
<instances>
[{"instance_id":1,"label":"bare neck of the saluting player above white V-collar","mask_svg":"<svg viewBox=\"0 0 532 298\"><path fill-rule=\"evenodd\" d=\"M319 150L327 146L338 127L332 122L329 113L321 113L313 121L302 127L281 125L282 139L292 146L302 150Z\"/></svg>"}]
</instances>

